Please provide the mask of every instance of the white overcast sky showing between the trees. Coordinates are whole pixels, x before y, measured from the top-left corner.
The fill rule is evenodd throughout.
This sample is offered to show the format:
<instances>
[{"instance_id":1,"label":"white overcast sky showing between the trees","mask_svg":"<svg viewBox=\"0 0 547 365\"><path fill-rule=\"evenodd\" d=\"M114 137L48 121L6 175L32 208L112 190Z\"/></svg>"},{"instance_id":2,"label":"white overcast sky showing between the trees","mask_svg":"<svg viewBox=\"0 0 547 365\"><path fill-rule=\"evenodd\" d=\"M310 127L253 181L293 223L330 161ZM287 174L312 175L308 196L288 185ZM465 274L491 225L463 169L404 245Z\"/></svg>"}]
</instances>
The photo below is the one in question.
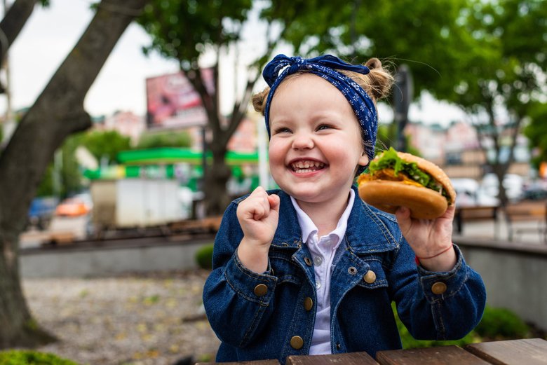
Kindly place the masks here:
<instances>
[{"instance_id":1,"label":"white overcast sky showing between the trees","mask_svg":"<svg viewBox=\"0 0 547 365\"><path fill-rule=\"evenodd\" d=\"M88 0L50 2L49 8L36 6L9 50L12 107L15 110L32 105L93 17ZM241 55L241 60L248 59L249 51L256 50L262 44L251 38L260 32L262 29L250 29L247 33L250 36L248 45L242 48L247 54ZM176 62L164 60L158 55L144 56L141 47L147 44L149 36L138 25L130 25L88 92L84 106L89 113L93 116L109 115L118 110L133 111L138 115L146 113L145 79L177 71ZM230 62L233 60L228 57L224 64L228 66ZM221 69L221 91L224 90L224 95L234 93L233 76L233 72L223 72ZM2 77L5 78L5 75ZM262 82L262 85L265 84ZM224 112L229 110L231 102L224 97ZM5 113L5 110L6 97L0 96L0 113ZM391 118L391 110L382 107L380 116L384 120ZM421 105L412 105L410 109L411 120L426 123L447 123L461 118L460 111L431 98L422 100Z\"/></svg>"}]
</instances>

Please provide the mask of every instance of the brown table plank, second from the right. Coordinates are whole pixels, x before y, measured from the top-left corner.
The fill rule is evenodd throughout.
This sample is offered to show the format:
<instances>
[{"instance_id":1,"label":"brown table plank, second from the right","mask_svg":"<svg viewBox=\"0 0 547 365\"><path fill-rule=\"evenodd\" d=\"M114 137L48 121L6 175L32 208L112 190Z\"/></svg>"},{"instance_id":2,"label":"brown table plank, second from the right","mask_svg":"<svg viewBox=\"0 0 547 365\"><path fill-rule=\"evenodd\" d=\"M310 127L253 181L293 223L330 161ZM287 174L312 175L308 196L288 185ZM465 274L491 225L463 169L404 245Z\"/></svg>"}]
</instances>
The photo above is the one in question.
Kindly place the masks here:
<instances>
[{"instance_id":1,"label":"brown table plank, second from the right","mask_svg":"<svg viewBox=\"0 0 547 365\"><path fill-rule=\"evenodd\" d=\"M489 365L457 346L379 351L376 360L381 365Z\"/></svg>"}]
</instances>

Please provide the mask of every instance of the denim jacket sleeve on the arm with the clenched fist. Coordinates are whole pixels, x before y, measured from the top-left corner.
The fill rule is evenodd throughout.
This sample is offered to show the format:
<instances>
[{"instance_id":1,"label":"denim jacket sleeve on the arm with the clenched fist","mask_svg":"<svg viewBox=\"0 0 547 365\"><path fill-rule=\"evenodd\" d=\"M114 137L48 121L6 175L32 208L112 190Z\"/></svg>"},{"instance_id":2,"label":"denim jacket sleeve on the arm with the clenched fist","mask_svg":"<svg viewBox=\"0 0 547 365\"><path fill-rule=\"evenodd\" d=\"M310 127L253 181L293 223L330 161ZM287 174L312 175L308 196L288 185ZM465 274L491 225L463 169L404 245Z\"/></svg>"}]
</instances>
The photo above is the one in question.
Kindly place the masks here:
<instances>
[{"instance_id":1,"label":"denim jacket sleeve on the arm with the clenched fist","mask_svg":"<svg viewBox=\"0 0 547 365\"><path fill-rule=\"evenodd\" d=\"M222 218L212 254L212 272L203 288L203 305L210 325L222 342L245 347L274 310L277 278L271 268L257 274L243 267L237 247L243 232L236 217L237 201Z\"/></svg>"}]
</instances>

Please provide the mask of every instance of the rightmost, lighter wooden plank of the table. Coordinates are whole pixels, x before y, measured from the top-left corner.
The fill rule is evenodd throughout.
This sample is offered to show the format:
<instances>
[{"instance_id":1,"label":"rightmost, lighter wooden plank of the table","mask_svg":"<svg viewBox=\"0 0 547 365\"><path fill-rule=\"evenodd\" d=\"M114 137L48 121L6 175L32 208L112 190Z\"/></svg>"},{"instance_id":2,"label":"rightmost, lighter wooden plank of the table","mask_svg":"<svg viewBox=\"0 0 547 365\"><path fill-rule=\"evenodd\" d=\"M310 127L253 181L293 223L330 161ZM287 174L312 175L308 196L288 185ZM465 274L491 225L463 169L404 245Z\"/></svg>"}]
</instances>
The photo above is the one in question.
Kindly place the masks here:
<instances>
[{"instance_id":1,"label":"rightmost, lighter wooden plank of the table","mask_svg":"<svg viewBox=\"0 0 547 365\"><path fill-rule=\"evenodd\" d=\"M466 350L495 365L547 364L547 341L541 338L473 343Z\"/></svg>"}]
</instances>

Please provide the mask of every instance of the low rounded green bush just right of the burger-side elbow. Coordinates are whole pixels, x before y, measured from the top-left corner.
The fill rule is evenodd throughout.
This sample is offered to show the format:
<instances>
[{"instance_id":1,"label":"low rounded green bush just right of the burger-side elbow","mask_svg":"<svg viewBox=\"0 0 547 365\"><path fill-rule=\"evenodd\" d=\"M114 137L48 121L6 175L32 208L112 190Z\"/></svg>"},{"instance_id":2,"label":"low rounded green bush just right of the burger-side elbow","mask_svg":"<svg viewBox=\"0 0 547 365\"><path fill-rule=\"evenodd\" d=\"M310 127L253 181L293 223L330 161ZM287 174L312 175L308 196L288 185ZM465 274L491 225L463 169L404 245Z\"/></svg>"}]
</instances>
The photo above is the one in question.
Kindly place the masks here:
<instances>
[{"instance_id":1,"label":"low rounded green bush just right of the burger-side elbow","mask_svg":"<svg viewBox=\"0 0 547 365\"><path fill-rule=\"evenodd\" d=\"M511 310L487 307L475 331L481 337L502 340L529 337L530 328Z\"/></svg>"}]
</instances>

